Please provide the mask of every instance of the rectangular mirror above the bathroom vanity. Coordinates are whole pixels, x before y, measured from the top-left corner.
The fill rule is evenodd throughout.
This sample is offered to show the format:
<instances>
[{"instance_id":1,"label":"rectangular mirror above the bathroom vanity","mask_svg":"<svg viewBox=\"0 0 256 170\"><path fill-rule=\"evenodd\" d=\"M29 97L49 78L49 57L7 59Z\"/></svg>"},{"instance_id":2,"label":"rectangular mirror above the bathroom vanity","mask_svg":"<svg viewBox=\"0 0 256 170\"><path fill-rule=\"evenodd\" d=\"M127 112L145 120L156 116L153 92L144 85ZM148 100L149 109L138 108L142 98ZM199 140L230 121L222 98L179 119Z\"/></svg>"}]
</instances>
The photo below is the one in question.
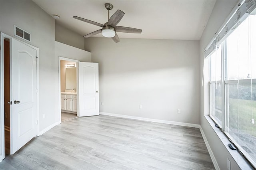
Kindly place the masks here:
<instances>
[{"instance_id":1,"label":"rectangular mirror above the bathroom vanity","mask_svg":"<svg viewBox=\"0 0 256 170\"><path fill-rule=\"evenodd\" d=\"M76 67L66 68L66 90L76 89Z\"/></svg>"}]
</instances>

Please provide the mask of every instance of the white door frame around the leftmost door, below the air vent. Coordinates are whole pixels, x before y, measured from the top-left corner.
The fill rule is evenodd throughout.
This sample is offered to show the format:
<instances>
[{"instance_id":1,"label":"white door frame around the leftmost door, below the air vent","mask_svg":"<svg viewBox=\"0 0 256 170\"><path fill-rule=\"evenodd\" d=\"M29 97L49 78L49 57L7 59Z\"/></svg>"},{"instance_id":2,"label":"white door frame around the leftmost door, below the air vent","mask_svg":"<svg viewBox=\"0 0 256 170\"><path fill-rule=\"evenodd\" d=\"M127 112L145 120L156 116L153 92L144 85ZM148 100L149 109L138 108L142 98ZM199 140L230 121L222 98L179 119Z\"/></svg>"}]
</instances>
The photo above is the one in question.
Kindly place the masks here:
<instances>
[{"instance_id":1,"label":"white door frame around the leftmost door, below the air vent","mask_svg":"<svg viewBox=\"0 0 256 170\"><path fill-rule=\"evenodd\" d=\"M36 56L38 57L36 62L36 88L37 88L37 109L36 109L36 116L37 116L37 134L36 136L39 136L39 48L35 47L33 45L30 45L24 41L20 41L12 36L9 36L7 34L4 34L1 32L1 45L0 45L0 162L5 158L5 147L4 147L4 39L10 39L13 38L21 43L24 43L25 45L28 45L29 47L32 47L36 50ZM10 56L11 57L11 56Z\"/></svg>"}]
</instances>

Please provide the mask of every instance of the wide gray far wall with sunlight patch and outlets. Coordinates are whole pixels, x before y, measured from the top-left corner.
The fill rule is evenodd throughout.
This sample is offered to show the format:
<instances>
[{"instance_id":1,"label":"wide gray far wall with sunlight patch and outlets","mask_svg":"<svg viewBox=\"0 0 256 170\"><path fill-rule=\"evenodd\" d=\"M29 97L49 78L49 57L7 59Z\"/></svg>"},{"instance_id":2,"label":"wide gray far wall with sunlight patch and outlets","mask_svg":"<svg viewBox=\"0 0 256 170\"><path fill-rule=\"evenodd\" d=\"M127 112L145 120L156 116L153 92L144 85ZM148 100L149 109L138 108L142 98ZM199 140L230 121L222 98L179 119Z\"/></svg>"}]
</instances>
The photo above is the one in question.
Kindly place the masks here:
<instances>
[{"instance_id":1,"label":"wide gray far wall with sunlight patch and outlets","mask_svg":"<svg viewBox=\"0 0 256 170\"><path fill-rule=\"evenodd\" d=\"M100 112L200 123L198 41L85 38L85 49L99 63Z\"/></svg>"}]
</instances>

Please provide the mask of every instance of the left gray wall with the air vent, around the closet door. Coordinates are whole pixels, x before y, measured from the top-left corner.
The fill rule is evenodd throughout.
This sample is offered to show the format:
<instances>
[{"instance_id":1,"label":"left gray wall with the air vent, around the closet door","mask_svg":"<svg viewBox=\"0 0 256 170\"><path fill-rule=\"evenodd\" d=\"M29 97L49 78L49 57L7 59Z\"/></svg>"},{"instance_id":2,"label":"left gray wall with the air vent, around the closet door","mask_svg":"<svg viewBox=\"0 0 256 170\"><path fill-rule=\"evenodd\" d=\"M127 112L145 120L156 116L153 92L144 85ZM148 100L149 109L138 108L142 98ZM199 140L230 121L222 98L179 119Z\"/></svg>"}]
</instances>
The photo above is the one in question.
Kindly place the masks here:
<instances>
[{"instance_id":1,"label":"left gray wall with the air vent, around the closet door","mask_svg":"<svg viewBox=\"0 0 256 170\"><path fill-rule=\"evenodd\" d=\"M56 122L55 114L59 108L58 58L54 57L54 19L32 1L1 0L0 3L1 32L14 36L15 24L29 32L30 44L39 48L39 114L40 130L43 130Z\"/></svg>"}]
</instances>

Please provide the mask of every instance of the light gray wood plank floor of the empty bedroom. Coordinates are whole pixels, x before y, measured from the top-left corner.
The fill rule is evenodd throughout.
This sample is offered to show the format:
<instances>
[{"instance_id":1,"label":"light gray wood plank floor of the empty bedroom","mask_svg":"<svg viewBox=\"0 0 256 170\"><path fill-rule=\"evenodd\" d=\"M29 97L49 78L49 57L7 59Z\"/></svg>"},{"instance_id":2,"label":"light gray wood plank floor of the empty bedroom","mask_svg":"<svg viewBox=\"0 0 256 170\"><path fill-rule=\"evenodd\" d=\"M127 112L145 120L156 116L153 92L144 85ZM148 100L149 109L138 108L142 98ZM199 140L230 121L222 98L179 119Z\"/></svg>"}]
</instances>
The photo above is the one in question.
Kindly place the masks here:
<instances>
[{"instance_id":1,"label":"light gray wood plank floor of the empty bedroom","mask_svg":"<svg viewBox=\"0 0 256 170\"><path fill-rule=\"evenodd\" d=\"M199 128L80 117L32 139L0 170L213 170Z\"/></svg>"}]
</instances>

